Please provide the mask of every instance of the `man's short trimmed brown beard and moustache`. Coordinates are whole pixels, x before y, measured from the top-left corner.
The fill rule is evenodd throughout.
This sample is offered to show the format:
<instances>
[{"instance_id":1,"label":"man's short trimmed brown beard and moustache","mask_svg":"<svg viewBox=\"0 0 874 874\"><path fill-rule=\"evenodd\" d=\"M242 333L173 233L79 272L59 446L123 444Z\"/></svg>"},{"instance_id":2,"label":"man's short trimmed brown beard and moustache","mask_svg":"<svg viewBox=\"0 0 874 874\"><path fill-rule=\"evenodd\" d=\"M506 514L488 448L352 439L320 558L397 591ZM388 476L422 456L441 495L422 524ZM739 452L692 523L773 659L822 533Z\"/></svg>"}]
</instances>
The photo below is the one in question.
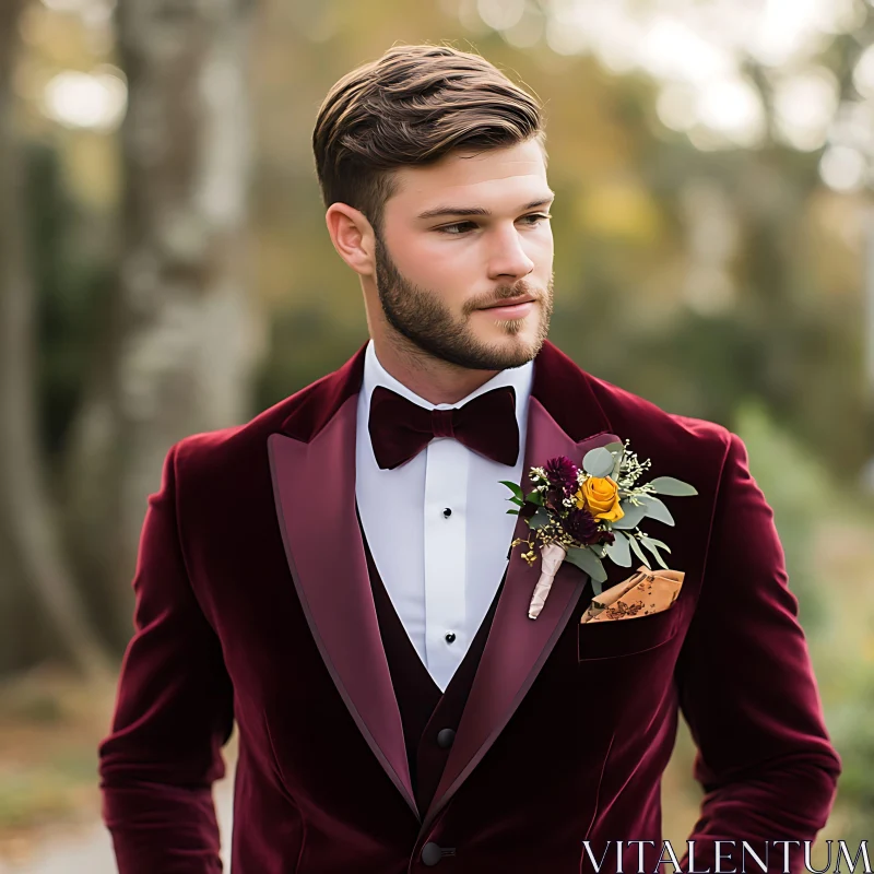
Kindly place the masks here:
<instances>
[{"instance_id":1,"label":"man's short trimmed brown beard and moustache","mask_svg":"<svg viewBox=\"0 0 874 874\"><path fill-rule=\"evenodd\" d=\"M550 331L553 312L552 276L546 293L542 295L536 294L524 280L496 290L497 299L531 294L536 297L535 306L541 308L533 344L519 343L509 349L500 349L480 342L468 323L471 312L484 304L495 303L496 298L468 302L461 318L456 319L437 294L421 288L401 274L379 233L376 234L375 256L376 285L382 311L389 324L415 347L413 351L418 350L471 370L521 367L540 352ZM500 327L507 336L516 336L522 331L524 319L504 321Z\"/></svg>"}]
</instances>

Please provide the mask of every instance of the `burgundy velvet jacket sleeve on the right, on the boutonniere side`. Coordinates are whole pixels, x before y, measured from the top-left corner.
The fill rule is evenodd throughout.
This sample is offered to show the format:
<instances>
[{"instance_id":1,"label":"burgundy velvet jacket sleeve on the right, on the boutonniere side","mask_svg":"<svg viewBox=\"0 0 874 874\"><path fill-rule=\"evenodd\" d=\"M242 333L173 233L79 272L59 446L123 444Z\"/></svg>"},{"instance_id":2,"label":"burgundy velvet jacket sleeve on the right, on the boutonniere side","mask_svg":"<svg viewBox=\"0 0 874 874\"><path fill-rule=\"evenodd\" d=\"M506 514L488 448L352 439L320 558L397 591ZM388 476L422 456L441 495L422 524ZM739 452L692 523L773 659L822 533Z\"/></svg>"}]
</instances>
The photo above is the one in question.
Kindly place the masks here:
<instances>
[{"instance_id":1,"label":"burgundy velvet jacket sleeve on the right, on the boutonniere side","mask_svg":"<svg viewBox=\"0 0 874 874\"><path fill-rule=\"evenodd\" d=\"M804 871L804 841L826 824L841 759L823 721L773 513L735 434L676 682L705 791L688 838L694 870L740 870L747 841L763 861L767 850L768 872L787 870L784 848L788 870ZM721 846L721 867L716 840L734 841ZM775 843L782 840L798 843ZM746 863L761 870L748 850ZM688 850L681 870L687 865Z\"/></svg>"}]
</instances>

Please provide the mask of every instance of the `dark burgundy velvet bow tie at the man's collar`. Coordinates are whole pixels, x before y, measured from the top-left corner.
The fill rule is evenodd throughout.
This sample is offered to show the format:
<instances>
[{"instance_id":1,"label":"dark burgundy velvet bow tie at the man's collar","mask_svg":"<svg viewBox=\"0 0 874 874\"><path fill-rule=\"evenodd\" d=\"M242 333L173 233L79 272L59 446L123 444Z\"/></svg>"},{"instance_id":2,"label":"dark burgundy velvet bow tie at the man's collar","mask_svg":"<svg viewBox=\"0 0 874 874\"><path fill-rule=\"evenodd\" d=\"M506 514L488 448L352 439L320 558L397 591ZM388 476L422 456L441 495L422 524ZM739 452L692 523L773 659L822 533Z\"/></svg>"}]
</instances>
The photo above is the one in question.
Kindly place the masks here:
<instances>
[{"instance_id":1,"label":"dark burgundy velvet bow tie at the man's collar","mask_svg":"<svg viewBox=\"0 0 874 874\"><path fill-rule=\"evenodd\" d=\"M435 437L454 437L474 452L512 466L519 458L516 391L504 386L463 406L426 410L377 386L367 424L377 464L393 470L417 456Z\"/></svg>"}]
</instances>

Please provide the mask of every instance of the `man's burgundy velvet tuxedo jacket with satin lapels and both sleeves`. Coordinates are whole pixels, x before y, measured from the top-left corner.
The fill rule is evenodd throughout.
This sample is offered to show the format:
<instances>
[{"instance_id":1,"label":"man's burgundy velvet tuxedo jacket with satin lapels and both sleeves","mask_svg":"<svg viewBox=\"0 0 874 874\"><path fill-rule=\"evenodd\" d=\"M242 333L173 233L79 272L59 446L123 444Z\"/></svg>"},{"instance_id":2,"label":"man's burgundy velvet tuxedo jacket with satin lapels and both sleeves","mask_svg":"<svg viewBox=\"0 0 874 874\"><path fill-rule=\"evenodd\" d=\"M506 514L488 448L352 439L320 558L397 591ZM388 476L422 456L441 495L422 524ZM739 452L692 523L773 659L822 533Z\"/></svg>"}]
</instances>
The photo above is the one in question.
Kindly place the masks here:
<instances>
[{"instance_id":1,"label":"man's burgundy velvet tuxedo jacket with satin lapels and both sleeves","mask_svg":"<svg viewBox=\"0 0 874 874\"><path fill-rule=\"evenodd\" d=\"M435 864L426 845L452 847L436 864L456 874L578 874L594 870L583 841L597 859L607 841L651 841L640 846L653 871L680 711L706 793L689 836L696 871L714 870L717 839L760 854L767 841L813 840L841 759L744 445L548 342L534 363L525 472L629 439L652 461L647 479L698 491L669 499L674 528L643 525L668 542L684 584L668 611L581 625L591 581L565 563L532 621L539 563L513 550L454 741L418 806L356 519L363 365L364 346L248 424L167 456L99 747L120 873L221 871L211 789L234 719L234 874L423 872ZM520 518L515 536L527 534ZM605 588L634 570L605 567ZM625 872L637 858L629 845ZM723 870L740 870L733 859ZM601 870L617 870L615 849ZM782 871L781 852L768 870Z\"/></svg>"}]
</instances>

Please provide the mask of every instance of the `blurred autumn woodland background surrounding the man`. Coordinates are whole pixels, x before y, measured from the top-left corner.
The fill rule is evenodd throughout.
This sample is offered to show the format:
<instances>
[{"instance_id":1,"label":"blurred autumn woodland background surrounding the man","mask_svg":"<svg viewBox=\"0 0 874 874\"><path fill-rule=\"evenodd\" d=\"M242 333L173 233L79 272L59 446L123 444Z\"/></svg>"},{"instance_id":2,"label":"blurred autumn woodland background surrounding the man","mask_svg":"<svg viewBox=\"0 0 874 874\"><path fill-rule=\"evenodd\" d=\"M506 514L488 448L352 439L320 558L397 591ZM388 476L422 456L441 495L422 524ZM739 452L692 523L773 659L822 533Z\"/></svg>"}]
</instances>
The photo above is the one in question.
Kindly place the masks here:
<instances>
[{"instance_id":1,"label":"blurred autumn woodland background surrounding the man","mask_svg":"<svg viewBox=\"0 0 874 874\"><path fill-rule=\"evenodd\" d=\"M872 0L3 0L0 871L115 871L96 745L146 496L367 339L310 134L399 42L543 101L551 339L746 442L845 765L819 849L874 838ZM693 753L683 725L675 842Z\"/></svg>"}]
</instances>

